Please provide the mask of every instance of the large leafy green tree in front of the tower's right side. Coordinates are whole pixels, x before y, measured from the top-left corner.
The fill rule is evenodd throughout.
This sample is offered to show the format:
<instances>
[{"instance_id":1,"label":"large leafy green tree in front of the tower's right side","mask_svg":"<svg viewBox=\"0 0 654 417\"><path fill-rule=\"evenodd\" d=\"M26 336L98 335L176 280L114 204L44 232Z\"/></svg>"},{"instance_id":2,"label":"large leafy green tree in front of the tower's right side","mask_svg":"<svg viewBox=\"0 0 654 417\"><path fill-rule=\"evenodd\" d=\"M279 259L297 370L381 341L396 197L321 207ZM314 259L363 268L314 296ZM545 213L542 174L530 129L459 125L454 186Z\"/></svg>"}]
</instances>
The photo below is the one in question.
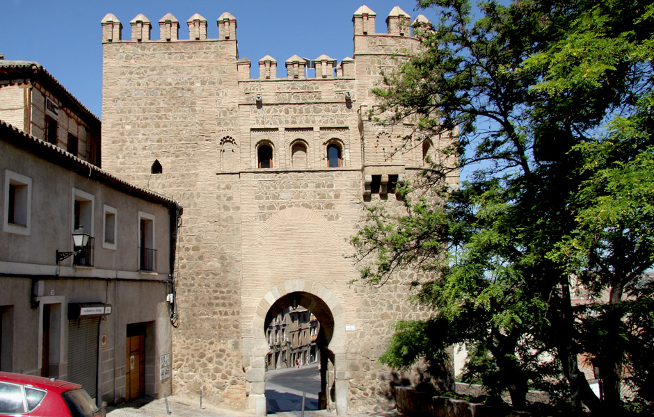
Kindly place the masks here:
<instances>
[{"instance_id":1,"label":"large leafy green tree in front of the tower's right side","mask_svg":"<svg viewBox=\"0 0 654 417\"><path fill-rule=\"evenodd\" d=\"M456 169L481 167L452 191L452 167L433 164L403 190L406 215L371 208L353 237L372 257L363 279L397 268L433 277L415 283L433 318L400 323L382 360L439 363L448 345L466 343L468 376L493 395L508 390L514 407L535 386L576 412L614 412L624 370L651 402L635 345L652 334L642 277L654 262L653 5L488 2L475 20L466 1L418 3L440 21L416 31L424 51L376 90L381 122L413 118L427 136L456 126L445 152L458 155ZM420 187L443 203L415 197ZM601 401L579 354L600 368Z\"/></svg>"}]
</instances>

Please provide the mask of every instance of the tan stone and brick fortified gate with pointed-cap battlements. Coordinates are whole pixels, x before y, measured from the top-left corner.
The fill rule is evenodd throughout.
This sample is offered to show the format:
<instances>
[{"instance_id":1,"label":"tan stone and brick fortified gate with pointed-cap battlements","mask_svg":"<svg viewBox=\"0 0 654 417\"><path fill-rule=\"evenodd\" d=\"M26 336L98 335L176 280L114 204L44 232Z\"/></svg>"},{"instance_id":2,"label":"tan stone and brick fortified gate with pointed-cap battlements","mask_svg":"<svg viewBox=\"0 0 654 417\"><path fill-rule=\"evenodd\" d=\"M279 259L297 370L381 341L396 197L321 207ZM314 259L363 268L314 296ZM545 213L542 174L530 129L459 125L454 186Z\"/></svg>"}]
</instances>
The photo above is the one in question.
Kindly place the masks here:
<instances>
[{"instance_id":1,"label":"tan stone and brick fortified gate with pointed-cap battlements","mask_svg":"<svg viewBox=\"0 0 654 417\"><path fill-rule=\"evenodd\" d=\"M264 56L258 79L239 59L230 13L218 39L197 14L184 40L170 14L157 40L144 15L129 22L131 40L115 16L102 20L103 166L184 206L175 391L265 416L266 328L301 305L320 322L321 405L344 415L390 401L392 374L377 359L393 323L415 316L411 277L351 284L358 268L344 255L365 207L401 210L397 183L451 138L401 147L413 125L369 117L381 70L420 48L403 10L386 18L388 33L375 33L375 18L366 6L354 14L351 58L292 56L277 78Z\"/></svg>"}]
</instances>

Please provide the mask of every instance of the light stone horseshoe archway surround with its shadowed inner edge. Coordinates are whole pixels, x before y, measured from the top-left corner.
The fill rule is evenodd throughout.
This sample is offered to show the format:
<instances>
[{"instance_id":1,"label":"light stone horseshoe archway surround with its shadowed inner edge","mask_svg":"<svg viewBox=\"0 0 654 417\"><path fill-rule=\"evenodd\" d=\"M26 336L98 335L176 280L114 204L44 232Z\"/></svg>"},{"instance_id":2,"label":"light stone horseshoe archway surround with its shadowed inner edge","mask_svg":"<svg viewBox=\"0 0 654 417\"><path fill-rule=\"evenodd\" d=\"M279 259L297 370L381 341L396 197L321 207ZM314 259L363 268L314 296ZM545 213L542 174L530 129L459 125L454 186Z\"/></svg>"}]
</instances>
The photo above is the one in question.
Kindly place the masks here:
<instances>
[{"instance_id":1,"label":"light stone horseshoe archway surround with its shadowed inner edge","mask_svg":"<svg viewBox=\"0 0 654 417\"><path fill-rule=\"evenodd\" d=\"M244 361L250 363L250 369L246 369L249 407L257 416L267 415L265 367L270 346L265 330L281 311L298 305L311 311L321 327L316 340L321 361L319 408L335 410L337 415L344 416L347 414L346 377L349 373L346 372L343 308L326 287L304 279L287 281L266 294L253 317L253 338L248 341L244 337L244 359L250 358Z\"/></svg>"}]
</instances>

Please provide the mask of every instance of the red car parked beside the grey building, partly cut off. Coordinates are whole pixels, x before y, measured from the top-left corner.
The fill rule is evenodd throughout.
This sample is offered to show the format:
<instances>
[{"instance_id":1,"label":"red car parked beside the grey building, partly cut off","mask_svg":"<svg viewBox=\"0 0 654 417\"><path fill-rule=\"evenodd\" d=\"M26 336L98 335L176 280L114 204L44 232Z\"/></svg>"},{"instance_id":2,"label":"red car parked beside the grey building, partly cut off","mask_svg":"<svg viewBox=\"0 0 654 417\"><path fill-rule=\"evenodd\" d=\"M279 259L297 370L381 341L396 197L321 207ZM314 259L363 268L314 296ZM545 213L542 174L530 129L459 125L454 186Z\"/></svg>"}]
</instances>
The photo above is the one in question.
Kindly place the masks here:
<instances>
[{"instance_id":1,"label":"red car parked beside the grey building, partly cut off","mask_svg":"<svg viewBox=\"0 0 654 417\"><path fill-rule=\"evenodd\" d=\"M99 409L79 384L0 372L0 416L99 417Z\"/></svg>"}]
</instances>

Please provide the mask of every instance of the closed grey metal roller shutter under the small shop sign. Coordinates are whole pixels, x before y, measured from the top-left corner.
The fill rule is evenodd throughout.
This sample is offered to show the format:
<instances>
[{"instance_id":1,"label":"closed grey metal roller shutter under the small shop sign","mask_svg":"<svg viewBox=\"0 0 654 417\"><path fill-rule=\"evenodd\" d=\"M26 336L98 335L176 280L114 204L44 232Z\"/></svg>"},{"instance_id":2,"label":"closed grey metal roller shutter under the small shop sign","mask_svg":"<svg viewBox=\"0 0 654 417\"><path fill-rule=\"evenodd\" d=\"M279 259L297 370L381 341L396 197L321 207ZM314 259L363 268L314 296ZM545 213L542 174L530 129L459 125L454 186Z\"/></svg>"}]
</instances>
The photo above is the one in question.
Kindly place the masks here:
<instances>
[{"instance_id":1,"label":"closed grey metal roller shutter under the small shop sign","mask_svg":"<svg viewBox=\"0 0 654 417\"><path fill-rule=\"evenodd\" d=\"M97 395L97 349L99 317L80 317L68 322L68 376L91 398Z\"/></svg>"}]
</instances>

